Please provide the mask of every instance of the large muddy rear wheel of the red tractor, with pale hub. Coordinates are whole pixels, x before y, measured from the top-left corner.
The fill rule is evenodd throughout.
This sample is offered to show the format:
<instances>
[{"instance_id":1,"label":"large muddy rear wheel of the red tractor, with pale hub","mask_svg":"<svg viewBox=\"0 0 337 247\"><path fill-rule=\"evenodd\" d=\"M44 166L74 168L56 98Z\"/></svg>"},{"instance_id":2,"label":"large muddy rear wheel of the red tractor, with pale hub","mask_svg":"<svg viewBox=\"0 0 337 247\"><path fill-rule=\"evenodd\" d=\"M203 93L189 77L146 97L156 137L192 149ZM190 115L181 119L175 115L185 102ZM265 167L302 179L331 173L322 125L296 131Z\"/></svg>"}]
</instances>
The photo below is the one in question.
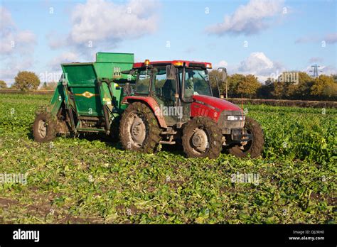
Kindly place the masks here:
<instances>
[{"instance_id":1,"label":"large muddy rear wheel of the red tractor, with pale hub","mask_svg":"<svg viewBox=\"0 0 337 247\"><path fill-rule=\"evenodd\" d=\"M161 140L156 116L146 104L134 102L122 114L119 139L126 150L154 153Z\"/></svg>"}]
</instances>

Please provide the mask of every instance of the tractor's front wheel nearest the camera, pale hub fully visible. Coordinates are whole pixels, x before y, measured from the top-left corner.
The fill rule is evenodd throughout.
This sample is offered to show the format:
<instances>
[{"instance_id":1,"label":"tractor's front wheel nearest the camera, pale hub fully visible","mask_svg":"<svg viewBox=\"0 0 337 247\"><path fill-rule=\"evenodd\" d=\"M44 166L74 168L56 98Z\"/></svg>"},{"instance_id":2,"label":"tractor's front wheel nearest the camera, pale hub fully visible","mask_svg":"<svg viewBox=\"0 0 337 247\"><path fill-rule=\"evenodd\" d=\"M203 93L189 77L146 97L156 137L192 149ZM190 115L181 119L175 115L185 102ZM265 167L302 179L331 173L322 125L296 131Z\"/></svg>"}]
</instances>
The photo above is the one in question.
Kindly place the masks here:
<instances>
[{"instance_id":1,"label":"tractor's front wheel nearest the camera, pale hub fully visible","mask_svg":"<svg viewBox=\"0 0 337 247\"><path fill-rule=\"evenodd\" d=\"M183 128L183 150L190 158L218 158L221 129L206 117L196 117Z\"/></svg>"}]
</instances>

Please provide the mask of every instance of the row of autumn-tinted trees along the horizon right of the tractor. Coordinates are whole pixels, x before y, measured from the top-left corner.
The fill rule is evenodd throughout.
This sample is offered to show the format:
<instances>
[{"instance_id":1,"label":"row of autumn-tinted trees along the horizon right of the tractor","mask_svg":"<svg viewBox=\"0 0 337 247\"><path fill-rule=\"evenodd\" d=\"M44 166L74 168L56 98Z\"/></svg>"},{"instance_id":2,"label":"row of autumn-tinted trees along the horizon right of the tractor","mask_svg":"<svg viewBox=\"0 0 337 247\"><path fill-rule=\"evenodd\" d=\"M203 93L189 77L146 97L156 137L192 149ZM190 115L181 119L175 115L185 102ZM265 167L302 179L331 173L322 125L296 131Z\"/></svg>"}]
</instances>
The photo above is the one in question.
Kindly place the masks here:
<instances>
[{"instance_id":1,"label":"row of autumn-tinted trees along the horizon right of the tractor","mask_svg":"<svg viewBox=\"0 0 337 247\"><path fill-rule=\"evenodd\" d=\"M210 82L220 72L210 71ZM228 97L252 99L294 99L294 100L337 100L337 75L311 77L306 72L298 72L299 82L282 82L268 78L264 84L255 75L234 74L228 76ZM226 84L218 80L220 94L225 95Z\"/></svg>"}]
</instances>

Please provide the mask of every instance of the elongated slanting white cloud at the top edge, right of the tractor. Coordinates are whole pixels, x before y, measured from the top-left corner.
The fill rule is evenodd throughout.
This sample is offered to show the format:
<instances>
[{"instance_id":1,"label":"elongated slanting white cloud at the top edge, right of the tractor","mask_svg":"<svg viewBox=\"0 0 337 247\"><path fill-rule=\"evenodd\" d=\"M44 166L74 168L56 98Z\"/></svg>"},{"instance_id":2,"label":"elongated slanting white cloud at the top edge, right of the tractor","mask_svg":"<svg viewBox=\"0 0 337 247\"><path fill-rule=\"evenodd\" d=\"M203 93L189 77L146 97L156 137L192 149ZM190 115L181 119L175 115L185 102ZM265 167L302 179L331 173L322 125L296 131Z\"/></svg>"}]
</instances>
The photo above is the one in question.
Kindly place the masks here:
<instances>
[{"instance_id":1,"label":"elongated slanting white cloud at the top edge, right of the tractor","mask_svg":"<svg viewBox=\"0 0 337 247\"><path fill-rule=\"evenodd\" d=\"M284 0L251 0L232 15L226 15L222 23L206 28L206 32L216 35L259 33L269 27L270 18L282 13L283 3Z\"/></svg>"}]
</instances>

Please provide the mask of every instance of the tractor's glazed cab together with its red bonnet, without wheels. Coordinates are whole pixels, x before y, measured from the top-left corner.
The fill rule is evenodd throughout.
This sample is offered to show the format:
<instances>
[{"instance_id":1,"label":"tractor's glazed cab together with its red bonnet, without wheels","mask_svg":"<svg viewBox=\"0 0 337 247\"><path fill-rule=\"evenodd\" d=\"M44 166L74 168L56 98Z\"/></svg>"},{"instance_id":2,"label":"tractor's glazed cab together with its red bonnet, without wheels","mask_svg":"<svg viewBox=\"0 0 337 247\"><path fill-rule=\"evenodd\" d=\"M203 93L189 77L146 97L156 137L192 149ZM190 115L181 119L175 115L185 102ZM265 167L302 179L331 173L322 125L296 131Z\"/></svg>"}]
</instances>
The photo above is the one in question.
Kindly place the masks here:
<instances>
[{"instance_id":1,"label":"tractor's glazed cab together with its red bonnet, without wheels","mask_svg":"<svg viewBox=\"0 0 337 247\"><path fill-rule=\"evenodd\" d=\"M189 121L191 116L209 116L218 121L223 110L237 111L241 109L220 97L218 78L215 84L210 83L208 69L210 62L195 62L186 60L159 61L134 63L132 70L125 71L135 77L133 94L124 98L124 103L136 99L154 99L150 106L154 111L159 108L161 122L165 126L181 125ZM222 78L227 77L226 70L222 70ZM148 103L149 104L149 103ZM198 108L198 109L196 109ZM218 111L216 111L218 109ZM218 114L219 113L219 114Z\"/></svg>"}]
</instances>

